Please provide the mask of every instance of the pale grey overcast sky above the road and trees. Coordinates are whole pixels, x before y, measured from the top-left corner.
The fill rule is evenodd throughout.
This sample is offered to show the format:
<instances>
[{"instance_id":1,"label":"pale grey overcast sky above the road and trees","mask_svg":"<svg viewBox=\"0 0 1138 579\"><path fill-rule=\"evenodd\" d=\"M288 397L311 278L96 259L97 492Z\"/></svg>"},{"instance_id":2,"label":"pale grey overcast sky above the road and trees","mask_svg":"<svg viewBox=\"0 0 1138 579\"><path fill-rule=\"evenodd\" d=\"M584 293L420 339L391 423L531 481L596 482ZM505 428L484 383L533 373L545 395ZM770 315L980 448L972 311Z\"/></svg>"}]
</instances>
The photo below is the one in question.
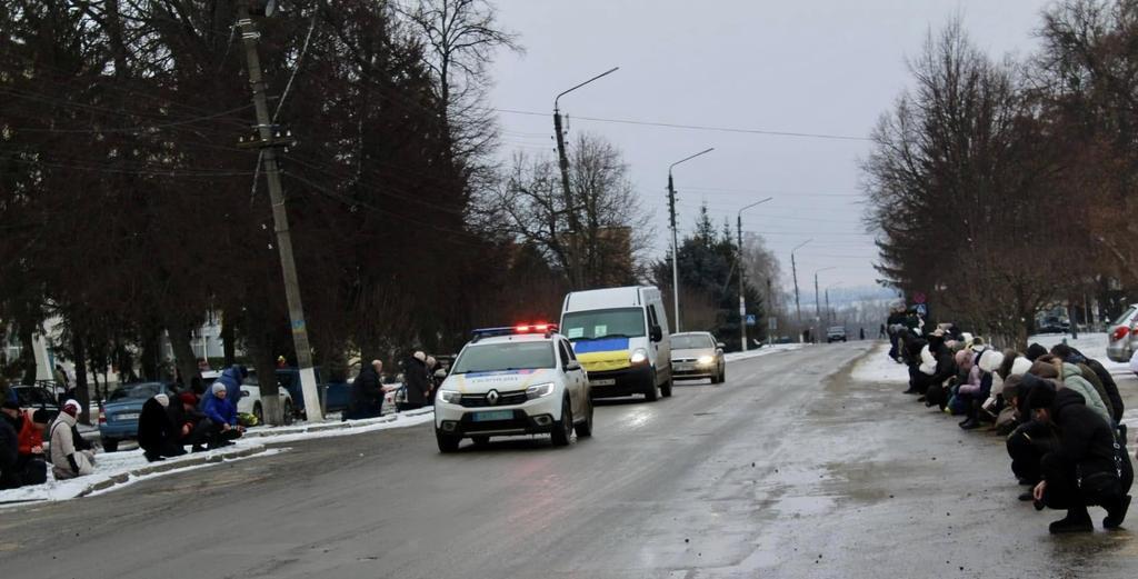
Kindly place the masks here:
<instances>
[{"instance_id":1,"label":"pale grey overcast sky above the road and trees","mask_svg":"<svg viewBox=\"0 0 1138 579\"><path fill-rule=\"evenodd\" d=\"M1041 0L496 0L526 53L495 64L493 106L503 155L550 151L556 93L613 66L620 71L561 100L570 139L595 132L616 143L644 206L654 214L657 255L668 245L668 165L676 167L681 235L702 202L717 223L743 214L761 233L790 287L823 267L823 287L872 284L873 238L863 214L858 160L864 140L737 134L585 121L644 121L865 138L912 82L906 58L930 26L962 15L972 40L995 56L1029 55Z\"/></svg>"}]
</instances>

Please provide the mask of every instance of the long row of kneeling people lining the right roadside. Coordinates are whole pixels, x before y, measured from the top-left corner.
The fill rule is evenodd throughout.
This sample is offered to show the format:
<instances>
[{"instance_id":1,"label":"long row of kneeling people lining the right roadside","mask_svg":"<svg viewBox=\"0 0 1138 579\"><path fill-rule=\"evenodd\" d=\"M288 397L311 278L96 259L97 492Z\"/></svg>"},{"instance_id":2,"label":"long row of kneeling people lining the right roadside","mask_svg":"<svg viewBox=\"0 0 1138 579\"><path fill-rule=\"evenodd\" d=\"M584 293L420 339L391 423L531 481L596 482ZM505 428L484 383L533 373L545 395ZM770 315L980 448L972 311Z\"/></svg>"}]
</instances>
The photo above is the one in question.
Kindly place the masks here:
<instances>
[{"instance_id":1,"label":"long row of kneeling people lining the right roadside","mask_svg":"<svg viewBox=\"0 0 1138 579\"><path fill-rule=\"evenodd\" d=\"M1106 510L1104 528L1122 524L1133 466L1122 397L1103 364L1065 342L1000 350L954 324L929 329L905 308L888 331L889 356L908 366L905 394L963 416L962 429L1005 436L1012 473L1030 488L1020 501L1066 511L1050 532L1094 530L1088 506Z\"/></svg>"}]
</instances>

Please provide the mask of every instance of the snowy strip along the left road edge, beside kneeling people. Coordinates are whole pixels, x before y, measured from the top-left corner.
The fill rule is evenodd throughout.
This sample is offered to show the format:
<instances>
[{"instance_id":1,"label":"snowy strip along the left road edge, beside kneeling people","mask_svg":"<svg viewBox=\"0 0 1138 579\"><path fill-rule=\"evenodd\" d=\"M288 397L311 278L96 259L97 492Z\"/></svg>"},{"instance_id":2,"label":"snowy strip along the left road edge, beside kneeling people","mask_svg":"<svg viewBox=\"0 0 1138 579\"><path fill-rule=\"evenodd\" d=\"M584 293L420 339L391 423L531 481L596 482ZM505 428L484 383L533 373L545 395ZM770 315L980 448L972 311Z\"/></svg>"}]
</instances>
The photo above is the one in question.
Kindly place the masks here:
<instances>
[{"instance_id":1,"label":"snowy strip along the left road edge, beside kneeling people","mask_svg":"<svg viewBox=\"0 0 1138 579\"><path fill-rule=\"evenodd\" d=\"M434 408L420 408L370 420L330 421L291 427L256 427L249 429L246 436L236 440L232 446L207 453L187 454L174 458L166 458L157 463L148 463L146 457L142 456L142 450L138 448L117 453L99 453L96 455L94 472L86 477L55 480L49 465L48 481L46 483L0 490L0 508L13 504L66 501L107 493L141 480L165 477L175 472L204 469L223 461L269 456L288 450L287 448L266 449L266 445L363 435L423 424L434 419ZM162 471L151 472L154 468L162 469Z\"/></svg>"}]
</instances>

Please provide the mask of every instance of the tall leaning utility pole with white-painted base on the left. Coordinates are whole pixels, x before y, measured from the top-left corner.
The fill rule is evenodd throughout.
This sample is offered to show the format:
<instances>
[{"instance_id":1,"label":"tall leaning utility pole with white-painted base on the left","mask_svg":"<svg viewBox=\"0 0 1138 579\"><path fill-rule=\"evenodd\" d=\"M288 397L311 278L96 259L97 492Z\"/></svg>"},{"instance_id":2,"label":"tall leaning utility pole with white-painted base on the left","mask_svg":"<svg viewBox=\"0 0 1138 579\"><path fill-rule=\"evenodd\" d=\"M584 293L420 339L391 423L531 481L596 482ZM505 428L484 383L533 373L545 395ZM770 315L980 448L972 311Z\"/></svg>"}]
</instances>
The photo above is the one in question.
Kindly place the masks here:
<instances>
[{"instance_id":1,"label":"tall leaning utility pole with white-painted base on the left","mask_svg":"<svg viewBox=\"0 0 1138 579\"><path fill-rule=\"evenodd\" d=\"M269 197L273 206L273 228L277 232L277 247L280 253L281 271L284 275L284 298L288 301L289 320L292 325L292 345L296 348L296 362L300 371L300 389L304 394L305 413L310 421L322 421L323 410L320 407L320 396L316 392L316 373L312 367L312 349L308 346L308 330L304 321L304 307L300 303L300 284L297 281L296 262L292 257L292 238L289 233L288 213L284 210L284 192L281 188L280 167L277 164L277 147L283 147L291 140L289 135L274 132L269 116L269 102L265 98L265 82L261 75L261 57L257 55L257 40L261 33L249 17L250 2L237 2L238 20L241 27L241 39L245 42L245 58L249 69L249 85L253 88L253 105L257 111L257 140L254 146L261 149L265 165L265 182L269 183ZM271 14L271 5L270 14ZM275 395L275 392L273 392ZM267 411L272 416L280 416L280 398L265 397L270 402ZM272 406L275 406L273 408Z\"/></svg>"}]
</instances>

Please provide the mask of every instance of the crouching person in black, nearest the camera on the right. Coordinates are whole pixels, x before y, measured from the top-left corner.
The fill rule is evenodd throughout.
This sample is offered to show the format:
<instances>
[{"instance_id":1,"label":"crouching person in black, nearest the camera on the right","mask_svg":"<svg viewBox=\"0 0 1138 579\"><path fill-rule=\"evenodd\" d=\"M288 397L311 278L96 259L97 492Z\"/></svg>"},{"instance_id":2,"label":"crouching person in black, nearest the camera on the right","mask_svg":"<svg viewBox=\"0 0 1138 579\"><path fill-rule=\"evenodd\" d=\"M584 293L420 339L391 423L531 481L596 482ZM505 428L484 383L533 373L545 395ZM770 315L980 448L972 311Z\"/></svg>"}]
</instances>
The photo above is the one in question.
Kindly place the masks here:
<instances>
[{"instance_id":1,"label":"crouching person in black, nearest the camera on the right","mask_svg":"<svg viewBox=\"0 0 1138 579\"><path fill-rule=\"evenodd\" d=\"M1028 404L1037 421L1054 424L1059 433L1058 446L1040 461L1044 480L1033 491L1037 507L1067 512L1050 524L1050 532L1092 531L1090 505L1106 508L1104 528L1121 526L1130 506L1133 468L1114 429L1070 388L1036 389Z\"/></svg>"}]
</instances>

